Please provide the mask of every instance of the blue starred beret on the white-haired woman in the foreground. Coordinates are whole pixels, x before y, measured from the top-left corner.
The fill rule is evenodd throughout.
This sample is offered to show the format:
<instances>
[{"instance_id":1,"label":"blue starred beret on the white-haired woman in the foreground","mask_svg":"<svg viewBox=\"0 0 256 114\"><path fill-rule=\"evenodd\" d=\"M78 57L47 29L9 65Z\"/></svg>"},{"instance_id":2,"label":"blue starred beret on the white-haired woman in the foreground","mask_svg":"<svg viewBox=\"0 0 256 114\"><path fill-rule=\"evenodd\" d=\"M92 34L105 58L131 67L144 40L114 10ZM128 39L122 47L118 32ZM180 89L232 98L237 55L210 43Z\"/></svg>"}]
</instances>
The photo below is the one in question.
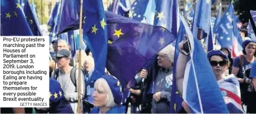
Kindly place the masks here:
<instances>
[{"instance_id":1,"label":"blue starred beret on the white-haired woman in the foreground","mask_svg":"<svg viewBox=\"0 0 256 114\"><path fill-rule=\"evenodd\" d=\"M117 105L120 105L123 98L122 86L120 84L120 81L111 75L103 75L101 78L107 81L107 84L109 84L110 90L112 91L112 95L114 96L115 103Z\"/></svg>"}]
</instances>

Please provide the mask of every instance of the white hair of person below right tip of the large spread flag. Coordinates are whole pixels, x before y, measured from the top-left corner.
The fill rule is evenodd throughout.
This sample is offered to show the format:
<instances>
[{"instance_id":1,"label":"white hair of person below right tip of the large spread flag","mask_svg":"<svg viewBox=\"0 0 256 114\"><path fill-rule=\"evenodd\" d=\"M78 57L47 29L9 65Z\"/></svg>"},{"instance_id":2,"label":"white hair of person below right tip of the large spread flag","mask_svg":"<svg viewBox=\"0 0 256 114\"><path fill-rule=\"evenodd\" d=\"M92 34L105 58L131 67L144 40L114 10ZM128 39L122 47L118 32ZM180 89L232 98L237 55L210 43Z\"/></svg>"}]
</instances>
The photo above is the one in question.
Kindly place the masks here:
<instances>
[{"instance_id":1,"label":"white hair of person below right tip of the large spread flag","mask_svg":"<svg viewBox=\"0 0 256 114\"><path fill-rule=\"evenodd\" d=\"M175 53L175 48L171 44L168 44L161 51L159 51L159 54L166 54L168 60L170 60L171 63L174 63L174 53Z\"/></svg>"}]
</instances>

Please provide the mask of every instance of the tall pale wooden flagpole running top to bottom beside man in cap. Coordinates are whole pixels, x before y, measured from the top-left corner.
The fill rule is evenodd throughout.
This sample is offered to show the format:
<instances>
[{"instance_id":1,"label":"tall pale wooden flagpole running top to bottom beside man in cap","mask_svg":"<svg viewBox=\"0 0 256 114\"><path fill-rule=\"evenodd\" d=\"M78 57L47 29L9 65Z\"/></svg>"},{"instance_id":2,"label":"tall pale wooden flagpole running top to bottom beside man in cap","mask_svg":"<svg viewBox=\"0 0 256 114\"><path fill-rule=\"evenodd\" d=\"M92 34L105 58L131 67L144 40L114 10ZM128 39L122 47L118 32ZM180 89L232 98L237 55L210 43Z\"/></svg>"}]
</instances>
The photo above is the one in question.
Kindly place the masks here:
<instances>
[{"instance_id":1,"label":"tall pale wooden flagpole running top to bottom beside man in cap","mask_svg":"<svg viewBox=\"0 0 256 114\"><path fill-rule=\"evenodd\" d=\"M80 22L79 22L79 61L78 61L78 106L77 112L81 112L81 45L82 45L82 12L83 12L83 0L80 0Z\"/></svg>"}]
</instances>

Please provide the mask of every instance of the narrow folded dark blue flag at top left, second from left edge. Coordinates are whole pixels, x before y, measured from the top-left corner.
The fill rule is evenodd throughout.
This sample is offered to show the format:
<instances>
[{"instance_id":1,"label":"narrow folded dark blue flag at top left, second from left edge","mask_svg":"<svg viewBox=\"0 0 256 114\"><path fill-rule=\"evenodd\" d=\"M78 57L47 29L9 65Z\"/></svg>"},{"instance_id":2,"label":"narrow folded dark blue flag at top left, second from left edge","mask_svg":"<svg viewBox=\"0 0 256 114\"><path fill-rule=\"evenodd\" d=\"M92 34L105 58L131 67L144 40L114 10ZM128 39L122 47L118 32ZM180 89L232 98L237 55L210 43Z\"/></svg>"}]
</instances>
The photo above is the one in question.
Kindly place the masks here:
<instances>
[{"instance_id":1,"label":"narrow folded dark blue flag at top left, second from left edge","mask_svg":"<svg viewBox=\"0 0 256 114\"><path fill-rule=\"evenodd\" d=\"M24 14L34 36L41 36L42 33L40 30L38 21L36 20L35 14L33 14L32 12L32 9L28 3L28 0L24 1Z\"/></svg>"}]
</instances>

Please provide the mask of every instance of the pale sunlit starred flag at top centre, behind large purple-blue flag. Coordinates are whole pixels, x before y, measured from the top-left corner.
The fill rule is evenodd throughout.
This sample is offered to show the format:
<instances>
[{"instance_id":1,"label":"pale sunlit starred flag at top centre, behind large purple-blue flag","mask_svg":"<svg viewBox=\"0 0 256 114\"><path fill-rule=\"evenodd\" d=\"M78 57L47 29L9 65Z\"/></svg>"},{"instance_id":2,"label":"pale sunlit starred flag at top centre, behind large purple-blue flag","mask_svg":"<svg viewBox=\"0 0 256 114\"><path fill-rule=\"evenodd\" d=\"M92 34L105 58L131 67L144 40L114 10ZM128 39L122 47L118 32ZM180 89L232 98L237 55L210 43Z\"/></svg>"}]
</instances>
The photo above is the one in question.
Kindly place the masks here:
<instances>
[{"instance_id":1,"label":"pale sunlit starred flag at top centre, behind large purple-blue flag","mask_svg":"<svg viewBox=\"0 0 256 114\"><path fill-rule=\"evenodd\" d=\"M132 3L129 18L162 26L174 35L177 34L178 2L176 0L136 0Z\"/></svg>"}]
</instances>

